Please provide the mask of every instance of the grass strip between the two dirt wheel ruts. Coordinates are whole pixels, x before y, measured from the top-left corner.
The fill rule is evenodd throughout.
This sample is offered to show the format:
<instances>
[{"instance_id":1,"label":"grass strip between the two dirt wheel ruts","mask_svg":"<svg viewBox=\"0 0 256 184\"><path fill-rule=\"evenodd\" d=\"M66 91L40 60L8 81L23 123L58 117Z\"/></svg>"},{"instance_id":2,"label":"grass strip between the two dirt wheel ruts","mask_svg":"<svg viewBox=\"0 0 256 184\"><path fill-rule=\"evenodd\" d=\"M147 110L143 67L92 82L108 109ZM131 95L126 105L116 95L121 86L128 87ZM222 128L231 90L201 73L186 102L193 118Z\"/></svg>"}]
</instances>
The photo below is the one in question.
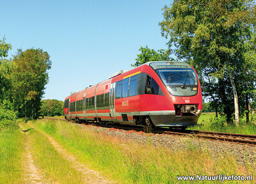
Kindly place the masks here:
<instances>
[{"instance_id":1,"label":"grass strip between the two dirt wheel ruts","mask_svg":"<svg viewBox=\"0 0 256 184\"><path fill-rule=\"evenodd\" d=\"M31 142L31 153L35 164L51 183L83 183L81 173L75 171L70 166L70 162L61 157L47 137L37 130L31 129L26 123L20 123L20 125L30 129L28 139Z\"/></svg>"}]
</instances>

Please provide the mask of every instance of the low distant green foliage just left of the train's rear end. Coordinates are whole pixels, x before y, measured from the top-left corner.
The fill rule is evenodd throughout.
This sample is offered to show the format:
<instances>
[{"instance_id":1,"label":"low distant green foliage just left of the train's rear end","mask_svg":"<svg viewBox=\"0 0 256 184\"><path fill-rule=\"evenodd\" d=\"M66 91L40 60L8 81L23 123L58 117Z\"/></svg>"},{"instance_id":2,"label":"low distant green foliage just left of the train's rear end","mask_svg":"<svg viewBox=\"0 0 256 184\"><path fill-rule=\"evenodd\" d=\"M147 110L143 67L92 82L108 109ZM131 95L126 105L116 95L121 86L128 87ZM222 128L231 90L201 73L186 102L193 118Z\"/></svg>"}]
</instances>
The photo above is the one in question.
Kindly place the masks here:
<instances>
[{"instance_id":1,"label":"low distant green foliage just left of the train's rear end","mask_svg":"<svg viewBox=\"0 0 256 184\"><path fill-rule=\"evenodd\" d=\"M63 115L64 102L60 100L42 100L40 116Z\"/></svg>"}]
</instances>

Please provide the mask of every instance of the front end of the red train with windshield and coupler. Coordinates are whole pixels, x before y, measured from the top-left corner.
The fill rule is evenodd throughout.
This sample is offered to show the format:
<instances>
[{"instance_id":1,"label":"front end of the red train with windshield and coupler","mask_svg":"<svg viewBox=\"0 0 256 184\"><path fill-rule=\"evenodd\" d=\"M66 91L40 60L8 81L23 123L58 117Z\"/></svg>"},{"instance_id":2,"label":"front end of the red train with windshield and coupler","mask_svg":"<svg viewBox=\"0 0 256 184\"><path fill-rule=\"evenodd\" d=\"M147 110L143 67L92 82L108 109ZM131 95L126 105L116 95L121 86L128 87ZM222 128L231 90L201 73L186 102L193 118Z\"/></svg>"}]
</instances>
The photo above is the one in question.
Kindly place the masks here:
<instances>
[{"instance_id":1,"label":"front end of the red train with windshield and coupler","mask_svg":"<svg viewBox=\"0 0 256 184\"><path fill-rule=\"evenodd\" d=\"M184 62L152 62L150 65L165 87L170 111L150 116L156 127L186 128L195 125L202 113L202 91L195 70Z\"/></svg>"}]
</instances>

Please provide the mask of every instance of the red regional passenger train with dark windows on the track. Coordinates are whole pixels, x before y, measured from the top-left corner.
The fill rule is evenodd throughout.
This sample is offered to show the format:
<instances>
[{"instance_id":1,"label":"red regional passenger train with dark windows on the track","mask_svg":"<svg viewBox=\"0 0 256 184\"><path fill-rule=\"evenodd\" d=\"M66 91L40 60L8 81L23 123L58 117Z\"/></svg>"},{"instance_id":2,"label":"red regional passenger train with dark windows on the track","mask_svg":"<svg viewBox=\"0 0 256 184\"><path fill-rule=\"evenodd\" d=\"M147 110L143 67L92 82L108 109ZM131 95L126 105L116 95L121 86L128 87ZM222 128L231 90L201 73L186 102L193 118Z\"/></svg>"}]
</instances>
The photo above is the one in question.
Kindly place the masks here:
<instances>
[{"instance_id":1,"label":"red regional passenger train with dark windows on the track","mask_svg":"<svg viewBox=\"0 0 256 184\"><path fill-rule=\"evenodd\" d=\"M202 112L202 92L193 67L184 62L154 61L65 98L66 119L77 122L186 128Z\"/></svg>"}]
</instances>

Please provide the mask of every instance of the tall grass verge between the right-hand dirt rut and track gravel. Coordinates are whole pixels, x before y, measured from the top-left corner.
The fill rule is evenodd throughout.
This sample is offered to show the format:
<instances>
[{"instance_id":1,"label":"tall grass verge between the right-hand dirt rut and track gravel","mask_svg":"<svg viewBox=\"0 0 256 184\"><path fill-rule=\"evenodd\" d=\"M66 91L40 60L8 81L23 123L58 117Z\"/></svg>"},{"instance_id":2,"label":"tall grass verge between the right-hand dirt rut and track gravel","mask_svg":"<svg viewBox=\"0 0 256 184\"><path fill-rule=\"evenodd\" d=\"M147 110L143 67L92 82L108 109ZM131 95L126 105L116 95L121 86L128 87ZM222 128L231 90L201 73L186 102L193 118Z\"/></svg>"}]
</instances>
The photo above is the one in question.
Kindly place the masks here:
<instances>
[{"instance_id":1,"label":"tall grass verge between the right-hand dirt rut and track gravel","mask_svg":"<svg viewBox=\"0 0 256 184\"><path fill-rule=\"evenodd\" d=\"M170 151L99 134L69 122L40 119L32 123L55 137L80 162L122 183L178 183L180 175L256 174L250 165L238 165L232 156L212 159L208 150L200 150L193 142L188 150Z\"/></svg>"}]
</instances>

